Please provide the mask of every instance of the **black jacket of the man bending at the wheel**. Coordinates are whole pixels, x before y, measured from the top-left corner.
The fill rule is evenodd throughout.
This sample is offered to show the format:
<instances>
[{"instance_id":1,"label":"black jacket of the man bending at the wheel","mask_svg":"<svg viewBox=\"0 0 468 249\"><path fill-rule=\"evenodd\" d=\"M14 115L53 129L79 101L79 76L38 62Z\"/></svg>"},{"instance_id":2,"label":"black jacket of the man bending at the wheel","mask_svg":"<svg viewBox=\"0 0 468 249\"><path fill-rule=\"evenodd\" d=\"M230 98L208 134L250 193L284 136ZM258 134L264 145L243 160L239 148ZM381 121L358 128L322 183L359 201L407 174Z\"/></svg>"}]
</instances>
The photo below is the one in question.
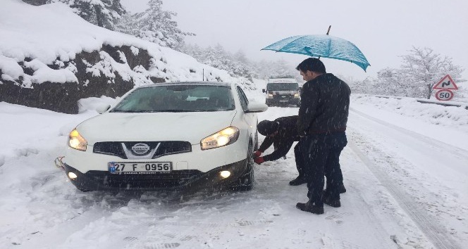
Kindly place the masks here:
<instances>
[{"instance_id":1,"label":"black jacket of the man bending at the wheel","mask_svg":"<svg viewBox=\"0 0 468 249\"><path fill-rule=\"evenodd\" d=\"M300 139L296 129L297 116L278 117L275 122L278 122L279 125L278 133L275 136L266 136L259 148L259 151L263 153L274 143L275 151L270 155L264 155L265 161L278 160L283 157L288 153L293 143Z\"/></svg>"}]
</instances>

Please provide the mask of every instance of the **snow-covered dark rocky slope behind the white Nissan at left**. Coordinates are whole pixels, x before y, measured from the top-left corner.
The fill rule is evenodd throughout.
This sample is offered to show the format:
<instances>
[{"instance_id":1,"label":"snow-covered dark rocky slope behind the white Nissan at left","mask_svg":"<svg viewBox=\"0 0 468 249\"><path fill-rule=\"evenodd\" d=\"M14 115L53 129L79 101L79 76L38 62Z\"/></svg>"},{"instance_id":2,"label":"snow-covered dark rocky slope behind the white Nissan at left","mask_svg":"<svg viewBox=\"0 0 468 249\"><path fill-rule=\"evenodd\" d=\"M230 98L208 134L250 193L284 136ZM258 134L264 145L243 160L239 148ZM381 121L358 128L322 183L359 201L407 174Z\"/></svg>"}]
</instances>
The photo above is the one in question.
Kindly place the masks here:
<instances>
[{"instance_id":1,"label":"snow-covered dark rocky slope behind the white Nissan at left","mask_svg":"<svg viewBox=\"0 0 468 249\"><path fill-rule=\"evenodd\" d=\"M97 27L65 4L0 3L0 101L77 113L80 98L115 98L142 84L237 82L184 53ZM204 74L203 74L204 73Z\"/></svg>"}]
</instances>

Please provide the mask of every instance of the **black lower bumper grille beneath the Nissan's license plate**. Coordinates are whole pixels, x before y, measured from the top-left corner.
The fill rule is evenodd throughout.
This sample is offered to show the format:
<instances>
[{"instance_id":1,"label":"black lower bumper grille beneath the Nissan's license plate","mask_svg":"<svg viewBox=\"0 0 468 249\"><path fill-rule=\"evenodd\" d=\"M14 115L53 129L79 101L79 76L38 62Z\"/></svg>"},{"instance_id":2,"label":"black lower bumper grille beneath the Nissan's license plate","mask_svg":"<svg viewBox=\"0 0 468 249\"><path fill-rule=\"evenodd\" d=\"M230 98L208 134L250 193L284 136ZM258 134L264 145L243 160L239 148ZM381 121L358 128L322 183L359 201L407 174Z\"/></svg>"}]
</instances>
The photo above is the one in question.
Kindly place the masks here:
<instances>
[{"instance_id":1,"label":"black lower bumper grille beneath the Nissan's license plate","mask_svg":"<svg viewBox=\"0 0 468 249\"><path fill-rule=\"evenodd\" d=\"M118 189L171 189L183 186L190 179L203 174L199 170L177 170L158 174L109 174L90 171L86 173L93 181Z\"/></svg>"}]
</instances>

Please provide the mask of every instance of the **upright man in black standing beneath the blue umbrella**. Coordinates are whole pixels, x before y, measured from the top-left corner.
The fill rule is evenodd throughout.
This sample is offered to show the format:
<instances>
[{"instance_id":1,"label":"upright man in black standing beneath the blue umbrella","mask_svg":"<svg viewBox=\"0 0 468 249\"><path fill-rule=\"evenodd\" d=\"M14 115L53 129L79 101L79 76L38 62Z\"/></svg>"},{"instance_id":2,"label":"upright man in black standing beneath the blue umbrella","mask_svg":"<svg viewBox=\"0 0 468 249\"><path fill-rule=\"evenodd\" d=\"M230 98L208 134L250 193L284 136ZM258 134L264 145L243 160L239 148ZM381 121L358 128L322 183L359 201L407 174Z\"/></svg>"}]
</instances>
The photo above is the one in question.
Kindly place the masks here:
<instances>
[{"instance_id":1,"label":"upright man in black standing beneath the blue umbrella","mask_svg":"<svg viewBox=\"0 0 468 249\"><path fill-rule=\"evenodd\" d=\"M297 203L296 207L320 215L324 213L324 203L334 208L341 205L340 153L347 144L345 130L351 90L343 80L326 73L324 63L317 58L307 58L296 69L307 81L302 87L297 132L302 136L309 189L309 201Z\"/></svg>"}]
</instances>

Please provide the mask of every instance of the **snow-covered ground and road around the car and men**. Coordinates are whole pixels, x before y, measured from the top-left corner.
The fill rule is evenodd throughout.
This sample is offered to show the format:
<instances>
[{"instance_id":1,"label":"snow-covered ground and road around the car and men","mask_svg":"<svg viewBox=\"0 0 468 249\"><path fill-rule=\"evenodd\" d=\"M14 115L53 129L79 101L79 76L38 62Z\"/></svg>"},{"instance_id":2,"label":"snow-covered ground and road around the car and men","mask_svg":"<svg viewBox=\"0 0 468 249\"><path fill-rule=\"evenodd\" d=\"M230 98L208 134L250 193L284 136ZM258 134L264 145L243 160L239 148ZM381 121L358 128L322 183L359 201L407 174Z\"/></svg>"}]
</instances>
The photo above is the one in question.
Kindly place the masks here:
<instances>
[{"instance_id":1,"label":"snow-covered ground and road around the car and men","mask_svg":"<svg viewBox=\"0 0 468 249\"><path fill-rule=\"evenodd\" d=\"M247 94L264 101L260 90ZM113 99L82 105L97 102ZM259 120L296 114L273 107ZM341 208L326 205L324 215L313 215L295 208L307 189L288 185L297 176L293 150L286 160L257 165L252 191L183 200L82 193L54 159L68 132L97 113L0 102L0 248L466 248L467 114L352 96L341 156L347 192Z\"/></svg>"}]
</instances>

